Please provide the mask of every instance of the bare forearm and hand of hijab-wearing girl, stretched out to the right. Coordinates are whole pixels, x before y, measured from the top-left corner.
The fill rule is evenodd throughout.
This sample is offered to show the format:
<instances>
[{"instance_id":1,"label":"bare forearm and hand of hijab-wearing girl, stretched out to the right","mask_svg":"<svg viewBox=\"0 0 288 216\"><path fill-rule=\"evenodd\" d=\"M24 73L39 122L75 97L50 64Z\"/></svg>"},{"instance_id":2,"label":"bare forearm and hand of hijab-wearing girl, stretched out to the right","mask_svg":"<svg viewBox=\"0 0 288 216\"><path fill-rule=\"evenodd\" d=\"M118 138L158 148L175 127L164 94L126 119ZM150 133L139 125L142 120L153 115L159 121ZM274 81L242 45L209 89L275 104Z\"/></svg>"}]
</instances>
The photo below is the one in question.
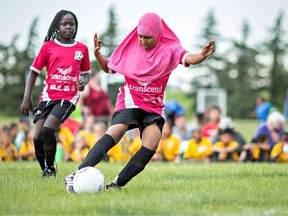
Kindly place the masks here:
<instances>
[{"instance_id":1,"label":"bare forearm and hand of hijab-wearing girl, stretched out to the right","mask_svg":"<svg viewBox=\"0 0 288 216\"><path fill-rule=\"evenodd\" d=\"M215 52L215 40L210 40L202 49L201 53L189 53L185 59L185 63L199 64L203 62L207 57L211 56Z\"/></svg>"}]
</instances>

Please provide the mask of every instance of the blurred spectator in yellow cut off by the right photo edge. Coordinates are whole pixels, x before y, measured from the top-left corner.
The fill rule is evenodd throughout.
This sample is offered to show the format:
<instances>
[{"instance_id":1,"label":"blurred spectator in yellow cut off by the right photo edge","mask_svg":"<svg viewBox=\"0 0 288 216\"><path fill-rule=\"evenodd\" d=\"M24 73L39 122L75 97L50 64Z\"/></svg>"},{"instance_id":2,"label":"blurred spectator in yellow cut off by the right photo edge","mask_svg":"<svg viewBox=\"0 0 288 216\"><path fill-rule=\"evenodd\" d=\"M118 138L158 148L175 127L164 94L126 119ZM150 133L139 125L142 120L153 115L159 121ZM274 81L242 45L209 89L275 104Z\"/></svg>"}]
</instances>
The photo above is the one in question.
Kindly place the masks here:
<instances>
[{"instance_id":1,"label":"blurred spectator in yellow cut off by the right photo edge","mask_svg":"<svg viewBox=\"0 0 288 216\"><path fill-rule=\"evenodd\" d=\"M274 145L271 151L271 161L288 162L288 133L285 132L281 136L280 142Z\"/></svg>"}]
</instances>

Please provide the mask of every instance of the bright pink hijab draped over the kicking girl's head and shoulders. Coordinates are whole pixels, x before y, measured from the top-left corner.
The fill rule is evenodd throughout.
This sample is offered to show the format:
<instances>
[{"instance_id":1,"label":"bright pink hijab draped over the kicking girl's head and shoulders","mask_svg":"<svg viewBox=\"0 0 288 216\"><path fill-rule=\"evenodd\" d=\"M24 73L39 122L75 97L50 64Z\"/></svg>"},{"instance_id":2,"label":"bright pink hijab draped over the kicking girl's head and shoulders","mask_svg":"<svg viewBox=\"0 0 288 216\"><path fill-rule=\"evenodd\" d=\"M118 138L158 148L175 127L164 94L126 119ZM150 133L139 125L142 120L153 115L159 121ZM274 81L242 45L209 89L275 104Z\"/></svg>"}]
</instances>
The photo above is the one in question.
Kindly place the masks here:
<instances>
[{"instance_id":1,"label":"bright pink hijab draped over the kicking girl's head and shoulders","mask_svg":"<svg viewBox=\"0 0 288 216\"><path fill-rule=\"evenodd\" d=\"M156 46L146 51L138 41L138 34L153 36ZM179 64L183 50L173 31L155 13L144 14L138 26L119 44L111 57L108 67L124 76L139 81L153 81L174 70ZM174 55L176 53L176 56Z\"/></svg>"}]
</instances>

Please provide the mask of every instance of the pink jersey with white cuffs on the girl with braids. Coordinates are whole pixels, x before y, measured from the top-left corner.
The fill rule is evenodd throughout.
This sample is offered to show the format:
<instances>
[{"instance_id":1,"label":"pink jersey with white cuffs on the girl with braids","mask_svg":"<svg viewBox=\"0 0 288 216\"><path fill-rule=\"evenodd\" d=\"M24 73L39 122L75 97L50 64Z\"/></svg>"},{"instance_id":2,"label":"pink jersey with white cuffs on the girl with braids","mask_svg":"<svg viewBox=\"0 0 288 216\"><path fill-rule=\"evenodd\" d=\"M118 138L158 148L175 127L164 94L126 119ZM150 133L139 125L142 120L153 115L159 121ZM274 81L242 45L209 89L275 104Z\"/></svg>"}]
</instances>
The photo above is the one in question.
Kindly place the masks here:
<instances>
[{"instance_id":1,"label":"pink jersey with white cuffs on the girl with braids","mask_svg":"<svg viewBox=\"0 0 288 216\"><path fill-rule=\"evenodd\" d=\"M47 41L30 69L40 74L44 67L47 72L40 102L67 100L76 105L80 96L76 82L81 74L91 72L87 46L80 42Z\"/></svg>"}]
</instances>

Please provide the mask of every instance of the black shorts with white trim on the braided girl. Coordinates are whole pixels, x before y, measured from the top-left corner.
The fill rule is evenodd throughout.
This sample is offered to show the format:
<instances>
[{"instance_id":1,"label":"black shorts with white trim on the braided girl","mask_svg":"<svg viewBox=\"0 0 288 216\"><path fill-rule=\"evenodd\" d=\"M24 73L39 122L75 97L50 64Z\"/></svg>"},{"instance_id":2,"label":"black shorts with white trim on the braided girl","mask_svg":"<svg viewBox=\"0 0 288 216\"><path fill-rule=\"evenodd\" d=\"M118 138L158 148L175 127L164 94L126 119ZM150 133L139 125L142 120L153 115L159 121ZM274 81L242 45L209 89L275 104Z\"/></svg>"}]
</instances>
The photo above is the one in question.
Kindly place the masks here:
<instances>
[{"instance_id":1,"label":"black shorts with white trim on the braided girl","mask_svg":"<svg viewBox=\"0 0 288 216\"><path fill-rule=\"evenodd\" d=\"M33 122L39 119L47 119L49 115L53 115L62 123L75 110L75 105L66 100L44 101L38 104L33 110Z\"/></svg>"}]
</instances>

